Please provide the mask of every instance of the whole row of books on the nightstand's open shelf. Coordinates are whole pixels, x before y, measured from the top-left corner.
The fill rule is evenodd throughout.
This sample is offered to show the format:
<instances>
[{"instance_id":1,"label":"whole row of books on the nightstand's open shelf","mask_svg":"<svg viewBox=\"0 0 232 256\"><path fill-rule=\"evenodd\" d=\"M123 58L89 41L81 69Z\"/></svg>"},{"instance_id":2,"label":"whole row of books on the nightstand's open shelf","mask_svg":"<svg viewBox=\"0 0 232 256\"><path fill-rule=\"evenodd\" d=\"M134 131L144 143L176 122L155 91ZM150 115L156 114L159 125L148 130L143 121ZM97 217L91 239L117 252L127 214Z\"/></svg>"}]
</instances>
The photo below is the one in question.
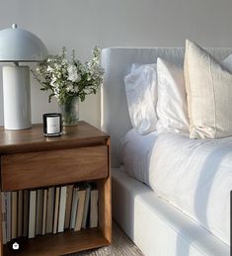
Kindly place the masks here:
<instances>
[{"instance_id":1,"label":"whole row of books on the nightstand's open shelf","mask_svg":"<svg viewBox=\"0 0 232 256\"><path fill-rule=\"evenodd\" d=\"M2 192L3 243L46 233L98 226L95 183Z\"/></svg>"}]
</instances>

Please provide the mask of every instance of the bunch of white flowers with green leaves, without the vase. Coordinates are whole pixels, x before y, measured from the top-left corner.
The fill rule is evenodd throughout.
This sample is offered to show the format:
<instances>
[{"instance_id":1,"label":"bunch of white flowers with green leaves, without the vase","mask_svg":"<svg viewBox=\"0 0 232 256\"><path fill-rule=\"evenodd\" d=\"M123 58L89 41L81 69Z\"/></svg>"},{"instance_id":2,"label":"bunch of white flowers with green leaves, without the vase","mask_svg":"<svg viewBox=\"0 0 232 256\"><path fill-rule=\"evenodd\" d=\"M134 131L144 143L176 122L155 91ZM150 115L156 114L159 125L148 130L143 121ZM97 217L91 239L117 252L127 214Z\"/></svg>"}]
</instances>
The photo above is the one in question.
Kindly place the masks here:
<instances>
[{"instance_id":1,"label":"bunch of white flowers with green leaves, without the vase","mask_svg":"<svg viewBox=\"0 0 232 256\"><path fill-rule=\"evenodd\" d=\"M83 102L86 95L96 94L103 82L104 69L100 65L100 48L92 51L92 59L82 64L72 50L71 58L67 58L66 48L57 55L49 55L39 62L35 78L39 81L42 91L50 91L51 97L57 98L59 104L68 104L73 98Z\"/></svg>"}]
</instances>

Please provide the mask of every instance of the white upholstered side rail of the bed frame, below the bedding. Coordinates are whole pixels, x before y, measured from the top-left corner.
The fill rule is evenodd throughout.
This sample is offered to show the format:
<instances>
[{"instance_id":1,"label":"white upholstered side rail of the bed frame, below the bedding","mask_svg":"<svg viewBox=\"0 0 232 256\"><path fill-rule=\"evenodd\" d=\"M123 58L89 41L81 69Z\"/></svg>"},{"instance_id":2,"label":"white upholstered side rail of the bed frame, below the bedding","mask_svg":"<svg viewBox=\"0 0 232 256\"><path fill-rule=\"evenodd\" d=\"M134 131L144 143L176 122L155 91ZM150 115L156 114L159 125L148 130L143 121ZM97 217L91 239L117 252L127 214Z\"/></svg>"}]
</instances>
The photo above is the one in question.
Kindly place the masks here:
<instances>
[{"instance_id":1,"label":"white upholstered side rail of the bed frame, below the bedding","mask_svg":"<svg viewBox=\"0 0 232 256\"><path fill-rule=\"evenodd\" d=\"M112 169L112 187L113 216L144 255L230 255L229 245L122 169Z\"/></svg>"}]
</instances>

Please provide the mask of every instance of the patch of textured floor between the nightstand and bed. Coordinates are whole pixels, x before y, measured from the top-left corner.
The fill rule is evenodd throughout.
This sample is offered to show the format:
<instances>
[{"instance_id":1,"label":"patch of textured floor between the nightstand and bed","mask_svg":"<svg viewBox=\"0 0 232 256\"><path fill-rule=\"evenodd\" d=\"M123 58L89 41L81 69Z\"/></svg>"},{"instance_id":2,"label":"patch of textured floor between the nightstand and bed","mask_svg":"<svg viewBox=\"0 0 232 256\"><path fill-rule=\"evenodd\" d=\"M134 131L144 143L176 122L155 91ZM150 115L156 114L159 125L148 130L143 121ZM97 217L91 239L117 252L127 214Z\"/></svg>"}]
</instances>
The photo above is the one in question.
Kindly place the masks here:
<instances>
[{"instance_id":1,"label":"patch of textured floor between the nightstand and bed","mask_svg":"<svg viewBox=\"0 0 232 256\"><path fill-rule=\"evenodd\" d=\"M113 223L113 243L96 250L69 254L69 256L144 256L120 227Z\"/></svg>"}]
</instances>

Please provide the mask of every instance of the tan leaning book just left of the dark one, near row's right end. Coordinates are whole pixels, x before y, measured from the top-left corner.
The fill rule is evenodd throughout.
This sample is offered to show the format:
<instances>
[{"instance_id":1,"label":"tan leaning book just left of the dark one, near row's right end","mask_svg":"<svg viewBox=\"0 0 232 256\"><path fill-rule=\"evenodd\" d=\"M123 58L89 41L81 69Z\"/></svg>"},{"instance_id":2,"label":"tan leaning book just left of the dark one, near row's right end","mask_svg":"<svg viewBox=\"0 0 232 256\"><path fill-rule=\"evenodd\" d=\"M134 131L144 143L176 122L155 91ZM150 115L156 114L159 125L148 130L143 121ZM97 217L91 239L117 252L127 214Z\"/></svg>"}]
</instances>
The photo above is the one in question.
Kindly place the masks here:
<instances>
[{"instance_id":1,"label":"tan leaning book just left of the dark one, near row's right end","mask_svg":"<svg viewBox=\"0 0 232 256\"><path fill-rule=\"evenodd\" d=\"M82 218L83 218L83 213L85 208L85 196L86 196L85 186L81 186L77 193L78 193L78 205L77 205L74 231L81 230Z\"/></svg>"}]
</instances>

